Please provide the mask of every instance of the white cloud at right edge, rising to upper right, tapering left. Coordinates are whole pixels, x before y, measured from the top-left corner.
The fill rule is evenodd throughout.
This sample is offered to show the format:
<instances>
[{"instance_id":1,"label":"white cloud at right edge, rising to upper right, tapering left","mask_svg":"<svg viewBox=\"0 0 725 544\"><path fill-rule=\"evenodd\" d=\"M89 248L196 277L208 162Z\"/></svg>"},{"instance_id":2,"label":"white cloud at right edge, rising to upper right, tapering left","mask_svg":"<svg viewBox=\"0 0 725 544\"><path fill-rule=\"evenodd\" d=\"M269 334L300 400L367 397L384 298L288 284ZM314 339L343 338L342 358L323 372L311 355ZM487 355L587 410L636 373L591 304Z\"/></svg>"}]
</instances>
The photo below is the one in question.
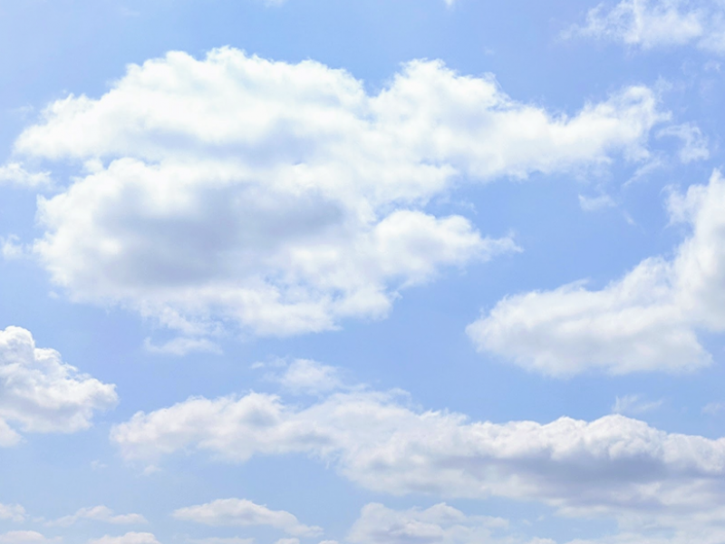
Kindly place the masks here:
<instances>
[{"instance_id":1,"label":"white cloud at right edge, rising to upper right, tapering left","mask_svg":"<svg viewBox=\"0 0 725 544\"><path fill-rule=\"evenodd\" d=\"M725 330L725 181L673 192L691 235L672 259L643 260L600 290L585 282L504 298L469 325L482 352L543 374L689 372L710 364L697 331Z\"/></svg>"}]
</instances>

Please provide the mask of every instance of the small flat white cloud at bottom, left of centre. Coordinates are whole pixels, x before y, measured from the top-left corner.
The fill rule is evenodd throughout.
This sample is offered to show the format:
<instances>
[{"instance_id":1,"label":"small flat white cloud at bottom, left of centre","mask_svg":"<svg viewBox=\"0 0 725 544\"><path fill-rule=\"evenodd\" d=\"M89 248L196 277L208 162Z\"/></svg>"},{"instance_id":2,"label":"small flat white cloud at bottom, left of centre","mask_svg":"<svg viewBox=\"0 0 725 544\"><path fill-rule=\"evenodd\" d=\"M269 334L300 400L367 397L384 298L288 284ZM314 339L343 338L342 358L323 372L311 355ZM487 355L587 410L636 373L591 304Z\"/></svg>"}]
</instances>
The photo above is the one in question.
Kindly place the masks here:
<instances>
[{"instance_id":1,"label":"small flat white cloud at bottom, left of centre","mask_svg":"<svg viewBox=\"0 0 725 544\"><path fill-rule=\"evenodd\" d=\"M245 499L219 499L207 504L175 510L177 520L196 521L215 527L250 527L267 525L299 537L320 535L323 529L304 525L285 510L269 510L266 506Z\"/></svg>"}]
</instances>

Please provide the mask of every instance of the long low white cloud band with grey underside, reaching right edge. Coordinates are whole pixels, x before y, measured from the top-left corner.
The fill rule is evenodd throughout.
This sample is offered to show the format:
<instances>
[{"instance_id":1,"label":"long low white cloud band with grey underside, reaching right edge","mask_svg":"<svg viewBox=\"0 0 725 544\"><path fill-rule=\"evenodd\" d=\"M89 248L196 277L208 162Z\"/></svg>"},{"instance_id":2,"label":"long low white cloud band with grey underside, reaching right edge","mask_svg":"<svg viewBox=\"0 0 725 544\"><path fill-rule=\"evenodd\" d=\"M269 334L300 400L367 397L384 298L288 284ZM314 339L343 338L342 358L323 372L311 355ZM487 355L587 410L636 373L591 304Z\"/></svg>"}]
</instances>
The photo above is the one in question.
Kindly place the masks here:
<instances>
[{"instance_id":1,"label":"long low white cloud band with grey underside, reaching right edge","mask_svg":"<svg viewBox=\"0 0 725 544\"><path fill-rule=\"evenodd\" d=\"M537 500L559 515L610 517L629 528L704 527L725 514L725 439L662 432L619 414L470 422L405 399L356 391L301 406L260 393L195 397L135 414L111 440L129 461L181 451L230 462L304 454L372 491Z\"/></svg>"}]
</instances>

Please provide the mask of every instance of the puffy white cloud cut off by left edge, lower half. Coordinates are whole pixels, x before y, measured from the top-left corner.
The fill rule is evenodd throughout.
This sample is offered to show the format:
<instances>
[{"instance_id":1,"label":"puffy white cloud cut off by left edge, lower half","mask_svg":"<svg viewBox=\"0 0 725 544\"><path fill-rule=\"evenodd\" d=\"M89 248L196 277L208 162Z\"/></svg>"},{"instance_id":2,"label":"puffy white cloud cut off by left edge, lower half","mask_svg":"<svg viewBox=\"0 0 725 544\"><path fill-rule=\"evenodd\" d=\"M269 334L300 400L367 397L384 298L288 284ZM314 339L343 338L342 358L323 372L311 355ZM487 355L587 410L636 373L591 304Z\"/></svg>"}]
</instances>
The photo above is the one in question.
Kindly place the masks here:
<instances>
[{"instance_id":1,"label":"puffy white cloud cut off by left edge, lower half","mask_svg":"<svg viewBox=\"0 0 725 544\"><path fill-rule=\"evenodd\" d=\"M29 331L0 330L0 445L21 432L76 432L94 412L115 405L115 386L80 374L53 349L35 347Z\"/></svg>"}]
</instances>

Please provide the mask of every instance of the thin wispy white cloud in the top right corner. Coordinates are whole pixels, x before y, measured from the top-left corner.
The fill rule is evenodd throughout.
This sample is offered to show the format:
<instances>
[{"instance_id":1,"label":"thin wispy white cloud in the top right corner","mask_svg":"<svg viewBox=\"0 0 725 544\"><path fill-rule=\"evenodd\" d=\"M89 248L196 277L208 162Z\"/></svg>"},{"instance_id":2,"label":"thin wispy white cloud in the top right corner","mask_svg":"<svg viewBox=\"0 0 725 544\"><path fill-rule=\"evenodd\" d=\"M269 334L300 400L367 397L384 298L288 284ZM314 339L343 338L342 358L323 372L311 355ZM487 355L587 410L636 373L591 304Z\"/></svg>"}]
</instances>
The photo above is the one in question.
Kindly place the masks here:
<instances>
[{"instance_id":1,"label":"thin wispy white cloud in the top right corner","mask_svg":"<svg viewBox=\"0 0 725 544\"><path fill-rule=\"evenodd\" d=\"M719 0L605 2L570 33L652 49L691 44L725 53L725 4Z\"/></svg>"}]
</instances>

